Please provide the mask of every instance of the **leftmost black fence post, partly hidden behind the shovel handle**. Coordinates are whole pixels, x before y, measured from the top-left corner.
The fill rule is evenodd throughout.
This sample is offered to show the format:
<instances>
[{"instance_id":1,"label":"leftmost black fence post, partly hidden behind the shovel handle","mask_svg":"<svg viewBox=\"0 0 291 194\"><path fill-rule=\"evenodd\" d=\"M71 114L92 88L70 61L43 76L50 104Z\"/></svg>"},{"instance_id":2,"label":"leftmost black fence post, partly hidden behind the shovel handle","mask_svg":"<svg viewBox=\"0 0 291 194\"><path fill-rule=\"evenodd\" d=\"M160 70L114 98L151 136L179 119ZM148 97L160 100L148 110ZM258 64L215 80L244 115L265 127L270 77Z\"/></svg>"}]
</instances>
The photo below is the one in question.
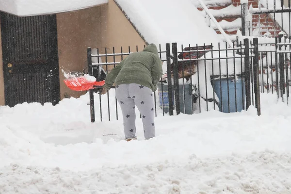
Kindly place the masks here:
<instances>
[{"instance_id":1,"label":"leftmost black fence post, partly hidden behind the shovel handle","mask_svg":"<svg viewBox=\"0 0 291 194\"><path fill-rule=\"evenodd\" d=\"M87 48L87 63L88 63L88 74L93 76L92 70L92 51L91 48ZM90 117L91 123L95 122L95 107L94 107L94 91L93 89L89 90L89 98L90 98Z\"/></svg>"}]
</instances>

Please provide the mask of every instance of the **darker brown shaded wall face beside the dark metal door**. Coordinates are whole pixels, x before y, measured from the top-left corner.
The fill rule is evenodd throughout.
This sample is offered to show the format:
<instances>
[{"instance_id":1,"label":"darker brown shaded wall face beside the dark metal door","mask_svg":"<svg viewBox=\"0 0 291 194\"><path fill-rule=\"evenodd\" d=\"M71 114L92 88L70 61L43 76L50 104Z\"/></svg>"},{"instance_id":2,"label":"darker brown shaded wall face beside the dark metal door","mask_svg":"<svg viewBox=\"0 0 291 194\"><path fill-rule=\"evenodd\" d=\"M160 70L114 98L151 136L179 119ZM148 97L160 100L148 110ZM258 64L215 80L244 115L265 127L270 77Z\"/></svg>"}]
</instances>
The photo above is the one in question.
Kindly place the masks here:
<instances>
[{"instance_id":1,"label":"darker brown shaded wall face beside the dark metal door","mask_svg":"<svg viewBox=\"0 0 291 194\"><path fill-rule=\"evenodd\" d=\"M83 71L87 66L88 47L101 47L101 10L104 5L57 14L61 99L80 97L85 92L65 86L66 72ZM88 70L86 69L86 72Z\"/></svg>"}]
</instances>

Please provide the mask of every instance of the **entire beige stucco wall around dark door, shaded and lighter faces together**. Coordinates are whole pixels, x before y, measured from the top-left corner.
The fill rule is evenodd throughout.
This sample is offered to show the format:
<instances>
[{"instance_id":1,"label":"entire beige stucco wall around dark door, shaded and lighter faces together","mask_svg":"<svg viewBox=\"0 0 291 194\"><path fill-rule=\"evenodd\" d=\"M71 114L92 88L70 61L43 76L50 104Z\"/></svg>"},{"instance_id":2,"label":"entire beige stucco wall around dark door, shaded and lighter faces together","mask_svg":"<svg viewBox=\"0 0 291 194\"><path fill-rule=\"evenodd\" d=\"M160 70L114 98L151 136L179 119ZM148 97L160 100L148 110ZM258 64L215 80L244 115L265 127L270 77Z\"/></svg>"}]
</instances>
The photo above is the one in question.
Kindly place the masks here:
<instances>
[{"instance_id":1,"label":"entire beige stucco wall around dark door, shaded and lighter faces together","mask_svg":"<svg viewBox=\"0 0 291 194\"><path fill-rule=\"evenodd\" d=\"M142 50L145 45L113 0L97 7L57 14L57 29L61 99L85 94L85 92L72 91L65 86L62 70L82 72L87 66L88 47L99 48L100 53L104 53L105 48L108 48L108 53L112 53L114 47L115 52L118 53L121 47L123 52L128 52L129 46L131 51L136 51L136 46ZM105 62L105 58L102 60ZM120 58L116 57L115 60L120 61ZM113 57L108 57L108 62L112 61ZM0 64L0 105L4 105L1 48ZM110 69L111 67L108 68L109 71Z\"/></svg>"}]
</instances>

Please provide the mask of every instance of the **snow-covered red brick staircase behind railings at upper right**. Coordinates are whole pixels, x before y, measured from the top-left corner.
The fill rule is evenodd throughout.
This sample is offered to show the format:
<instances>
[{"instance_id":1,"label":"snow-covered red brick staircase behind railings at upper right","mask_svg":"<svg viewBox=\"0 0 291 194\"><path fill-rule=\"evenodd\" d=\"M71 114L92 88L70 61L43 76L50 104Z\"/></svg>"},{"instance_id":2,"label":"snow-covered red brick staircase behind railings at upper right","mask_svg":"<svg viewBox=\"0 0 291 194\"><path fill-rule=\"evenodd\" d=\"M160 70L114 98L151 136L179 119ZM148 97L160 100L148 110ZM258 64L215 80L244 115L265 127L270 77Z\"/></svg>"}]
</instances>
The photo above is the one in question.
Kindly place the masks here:
<instances>
[{"instance_id":1,"label":"snow-covered red brick staircase behind railings at upper right","mask_svg":"<svg viewBox=\"0 0 291 194\"><path fill-rule=\"evenodd\" d=\"M242 31L242 16L241 16L241 3L240 0L203 0L210 13L215 17L222 29L229 35L229 38L234 41L238 30ZM258 8L258 0L249 0L248 6ZM199 11L203 12L202 6L198 3L196 7ZM253 16L253 30L260 24L260 33L264 35L266 32L269 37L274 37L274 34L278 34L281 29L274 27L274 21L266 14ZM264 27L265 26L265 27ZM216 25L210 20L210 27L213 28L216 33L221 34ZM259 36L259 33L253 33L254 36Z\"/></svg>"}]
</instances>

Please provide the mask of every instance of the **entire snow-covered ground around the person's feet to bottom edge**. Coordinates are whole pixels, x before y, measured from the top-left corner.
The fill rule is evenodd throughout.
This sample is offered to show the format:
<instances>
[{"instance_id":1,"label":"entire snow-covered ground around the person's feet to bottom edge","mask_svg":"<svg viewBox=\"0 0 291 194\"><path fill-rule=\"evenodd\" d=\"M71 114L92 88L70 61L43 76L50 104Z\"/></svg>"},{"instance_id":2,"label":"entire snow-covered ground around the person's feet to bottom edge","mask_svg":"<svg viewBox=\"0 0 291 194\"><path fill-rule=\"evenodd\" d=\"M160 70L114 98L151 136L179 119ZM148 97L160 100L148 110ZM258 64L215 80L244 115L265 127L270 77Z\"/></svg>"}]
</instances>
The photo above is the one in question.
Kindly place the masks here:
<instances>
[{"instance_id":1,"label":"entire snow-covered ground around the person's feet to bottom edge","mask_svg":"<svg viewBox=\"0 0 291 194\"><path fill-rule=\"evenodd\" d=\"M131 142L114 112L90 123L87 102L0 107L0 194L291 193L291 107L275 95L261 116L158 110L157 137L144 140L138 118Z\"/></svg>"}]
</instances>

